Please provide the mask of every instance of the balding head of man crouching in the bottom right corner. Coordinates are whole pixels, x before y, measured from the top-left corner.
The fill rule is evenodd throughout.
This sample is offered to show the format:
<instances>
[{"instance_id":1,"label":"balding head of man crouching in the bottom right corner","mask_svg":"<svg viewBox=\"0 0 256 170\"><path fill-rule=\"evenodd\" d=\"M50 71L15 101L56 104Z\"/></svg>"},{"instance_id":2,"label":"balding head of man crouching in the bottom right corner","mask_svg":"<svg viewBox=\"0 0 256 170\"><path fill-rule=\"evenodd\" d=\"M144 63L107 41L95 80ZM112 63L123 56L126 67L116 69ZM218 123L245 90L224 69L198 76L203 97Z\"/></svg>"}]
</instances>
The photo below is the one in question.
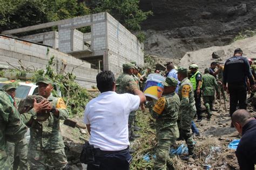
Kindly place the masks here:
<instances>
[{"instance_id":1,"label":"balding head of man crouching in the bottom right corner","mask_svg":"<svg viewBox=\"0 0 256 170\"><path fill-rule=\"evenodd\" d=\"M248 123L248 121L252 119L254 119L252 114L244 109L239 109L235 111L231 117L233 124L239 123L241 126L244 126L245 124Z\"/></svg>"}]
</instances>

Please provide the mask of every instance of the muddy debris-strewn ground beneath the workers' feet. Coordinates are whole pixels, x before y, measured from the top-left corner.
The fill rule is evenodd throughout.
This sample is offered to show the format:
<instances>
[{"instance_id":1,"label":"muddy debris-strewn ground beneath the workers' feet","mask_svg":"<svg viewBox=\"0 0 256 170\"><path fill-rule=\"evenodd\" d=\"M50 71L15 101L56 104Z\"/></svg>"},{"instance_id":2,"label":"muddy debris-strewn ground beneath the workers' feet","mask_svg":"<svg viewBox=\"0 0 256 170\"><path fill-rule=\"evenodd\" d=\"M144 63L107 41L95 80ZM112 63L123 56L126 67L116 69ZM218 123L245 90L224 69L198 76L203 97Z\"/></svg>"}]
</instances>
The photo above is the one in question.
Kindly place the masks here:
<instances>
[{"instance_id":1,"label":"muddy debris-strewn ground beneath the workers' feet","mask_svg":"<svg viewBox=\"0 0 256 170\"><path fill-rule=\"evenodd\" d=\"M224 100L221 100L221 105L219 105L219 100L216 100L215 108L218 111L213 111L210 121L206 119L206 114L203 114L205 115L203 120L200 123L196 123L200 132L200 137L194 137L197 158L183 160L183 155L175 155L173 161L177 169L207 169L206 165L211 166L210 169L239 169L235 151L227 147L233 139L240 139L240 135L235 128L230 127L229 101L226 101L226 111ZM248 105L248 110L253 112L250 104ZM72 119L81 122L83 120L81 117ZM141 137L131 143L131 146L137 149L133 154L131 169L152 169L156 137L154 120L150 117L148 110L144 113L138 112L137 125L142 130L137 132ZM73 169L86 169L86 166L79 162L79 153L84 140L89 139L89 134L86 133L87 130L84 131L84 129L77 127L72 128L64 124L62 124L61 128L67 146L66 154L70 165ZM185 144L185 141L176 141L173 148L177 148L181 144ZM149 160L143 158L145 155L149 155Z\"/></svg>"}]
</instances>

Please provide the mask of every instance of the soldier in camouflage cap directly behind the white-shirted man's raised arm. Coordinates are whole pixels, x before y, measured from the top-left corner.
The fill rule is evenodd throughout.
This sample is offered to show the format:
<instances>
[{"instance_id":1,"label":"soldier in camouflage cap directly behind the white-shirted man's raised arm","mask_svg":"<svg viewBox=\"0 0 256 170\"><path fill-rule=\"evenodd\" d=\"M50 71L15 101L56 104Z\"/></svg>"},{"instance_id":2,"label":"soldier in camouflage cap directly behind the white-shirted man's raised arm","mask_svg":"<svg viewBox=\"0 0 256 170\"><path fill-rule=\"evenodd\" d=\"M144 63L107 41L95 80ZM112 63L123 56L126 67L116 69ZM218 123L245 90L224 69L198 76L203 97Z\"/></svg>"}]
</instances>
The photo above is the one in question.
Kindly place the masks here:
<instances>
[{"instance_id":1,"label":"soldier in camouflage cap directly behind the white-shirted man's raised arm","mask_svg":"<svg viewBox=\"0 0 256 170\"><path fill-rule=\"evenodd\" d=\"M132 73L133 73L134 64L132 63L125 63L123 64L123 73L117 78L117 87L116 92L118 94L123 93L130 93L133 94L134 89L138 89L138 84L134 80ZM133 124L135 119L136 112L131 112L129 114L128 119L128 127L129 127L129 140L134 140L134 137L137 135L133 135Z\"/></svg>"}]
</instances>

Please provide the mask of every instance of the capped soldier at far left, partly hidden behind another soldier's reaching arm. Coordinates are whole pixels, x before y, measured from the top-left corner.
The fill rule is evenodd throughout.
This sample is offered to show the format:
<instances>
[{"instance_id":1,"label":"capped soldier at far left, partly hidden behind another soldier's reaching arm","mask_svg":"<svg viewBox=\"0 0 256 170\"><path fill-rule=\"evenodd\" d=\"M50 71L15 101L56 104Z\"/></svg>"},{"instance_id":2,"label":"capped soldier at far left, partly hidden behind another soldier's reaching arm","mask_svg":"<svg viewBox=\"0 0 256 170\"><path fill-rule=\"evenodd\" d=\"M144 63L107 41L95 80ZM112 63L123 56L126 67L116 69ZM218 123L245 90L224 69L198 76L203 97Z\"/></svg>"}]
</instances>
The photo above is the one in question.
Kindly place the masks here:
<instances>
[{"instance_id":1,"label":"capped soldier at far left, partly hidden behind another soldier's reaching arm","mask_svg":"<svg viewBox=\"0 0 256 170\"><path fill-rule=\"evenodd\" d=\"M5 90L6 93L8 93L12 99L12 102L14 106L17 108L19 101L21 99L16 98L16 86L14 83L5 84L3 86L3 90ZM22 169L29 169L29 163L28 163L28 142L26 141L25 135L24 138L21 141L12 143L7 142L6 146L8 148L8 154L11 162L11 166L14 169L17 169L19 167L20 170ZM15 162L15 164L14 164ZM17 165L17 163L19 165Z\"/></svg>"}]
</instances>

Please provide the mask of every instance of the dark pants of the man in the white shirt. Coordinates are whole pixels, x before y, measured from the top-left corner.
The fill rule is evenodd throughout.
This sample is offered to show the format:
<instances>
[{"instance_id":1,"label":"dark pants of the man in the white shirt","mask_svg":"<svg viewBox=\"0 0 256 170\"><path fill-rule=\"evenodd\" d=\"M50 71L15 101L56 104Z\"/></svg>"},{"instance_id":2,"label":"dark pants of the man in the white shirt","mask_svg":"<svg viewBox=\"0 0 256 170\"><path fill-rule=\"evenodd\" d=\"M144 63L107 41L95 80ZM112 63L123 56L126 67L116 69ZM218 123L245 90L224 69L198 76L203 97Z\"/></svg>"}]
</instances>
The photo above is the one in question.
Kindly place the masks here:
<instances>
[{"instance_id":1,"label":"dark pants of the man in the white shirt","mask_svg":"<svg viewBox=\"0 0 256 170\"><path fill-rule=\"evenodd\" d=\"M132 156L129 148L122 151L95 151L96 164L88 164L87 170L129 170Z\"/></svg>"}]
</instances>

